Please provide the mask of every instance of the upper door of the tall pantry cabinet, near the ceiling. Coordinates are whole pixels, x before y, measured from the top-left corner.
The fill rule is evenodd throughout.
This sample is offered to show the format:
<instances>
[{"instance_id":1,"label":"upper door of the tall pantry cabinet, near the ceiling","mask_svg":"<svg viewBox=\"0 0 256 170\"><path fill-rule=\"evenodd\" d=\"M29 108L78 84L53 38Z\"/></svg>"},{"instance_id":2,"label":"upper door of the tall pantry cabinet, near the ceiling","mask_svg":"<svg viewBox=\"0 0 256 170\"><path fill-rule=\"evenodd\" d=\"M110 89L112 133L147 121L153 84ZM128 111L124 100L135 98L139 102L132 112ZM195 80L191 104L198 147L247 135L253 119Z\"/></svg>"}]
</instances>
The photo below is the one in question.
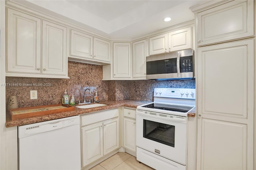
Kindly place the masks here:
<instances>
[{"instance_id":1,"label":"upper door of the tall pantry cabinet, near the ceiling","mask_svg":"<svg viewBox=\"0 0 256 170\"><path fill-rule=\"evenodd\" d=\"M254 36L254 1L232 1L197 14L198 46Z\"/></svg>"}]
</instances>

